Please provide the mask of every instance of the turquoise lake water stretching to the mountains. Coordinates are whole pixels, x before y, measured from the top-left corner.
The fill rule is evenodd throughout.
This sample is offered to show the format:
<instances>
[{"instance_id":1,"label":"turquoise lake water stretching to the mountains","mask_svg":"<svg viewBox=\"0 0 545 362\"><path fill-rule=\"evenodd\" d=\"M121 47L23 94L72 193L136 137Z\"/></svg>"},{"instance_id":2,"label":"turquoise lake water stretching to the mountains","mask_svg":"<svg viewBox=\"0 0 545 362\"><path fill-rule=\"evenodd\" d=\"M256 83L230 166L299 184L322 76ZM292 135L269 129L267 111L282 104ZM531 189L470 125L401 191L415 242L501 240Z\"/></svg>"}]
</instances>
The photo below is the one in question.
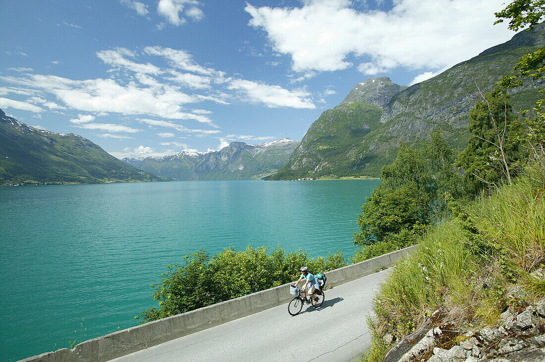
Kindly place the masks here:
<instances>
[{"instance_id":1,"label":"turquoise lake water stretching to the mountains","mask_svg":"<svg viewBox=\"0 0 545 362\"><path fill-rule=\"evenodd\" d=\"M361 205L379 183L1 187L0 360L135 326L134 316L155 305L149 285L201 248L280 245L351 256Z\"/></svg>"}]
</instances>

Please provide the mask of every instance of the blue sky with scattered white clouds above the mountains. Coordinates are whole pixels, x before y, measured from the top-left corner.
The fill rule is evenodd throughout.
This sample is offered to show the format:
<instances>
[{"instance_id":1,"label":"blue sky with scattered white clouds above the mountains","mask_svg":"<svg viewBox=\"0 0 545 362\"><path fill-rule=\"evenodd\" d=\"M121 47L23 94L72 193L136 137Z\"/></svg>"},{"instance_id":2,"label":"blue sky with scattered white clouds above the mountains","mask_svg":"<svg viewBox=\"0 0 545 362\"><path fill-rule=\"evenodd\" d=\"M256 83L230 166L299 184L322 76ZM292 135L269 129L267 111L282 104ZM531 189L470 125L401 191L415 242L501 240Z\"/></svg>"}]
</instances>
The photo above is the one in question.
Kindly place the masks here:
<instances>
[{"instance_id":1,"label":"blue sky with scattered white clouds above the mountains","mask_svg":"<svg viewBox=\"0 0 545 362\"><path fill-rule=\"evenodd\" d=\"M510 39L503 3L3 1L0 108L116 157L300 140L366 78L410 85Z\"/></svg>"}]
</instances>

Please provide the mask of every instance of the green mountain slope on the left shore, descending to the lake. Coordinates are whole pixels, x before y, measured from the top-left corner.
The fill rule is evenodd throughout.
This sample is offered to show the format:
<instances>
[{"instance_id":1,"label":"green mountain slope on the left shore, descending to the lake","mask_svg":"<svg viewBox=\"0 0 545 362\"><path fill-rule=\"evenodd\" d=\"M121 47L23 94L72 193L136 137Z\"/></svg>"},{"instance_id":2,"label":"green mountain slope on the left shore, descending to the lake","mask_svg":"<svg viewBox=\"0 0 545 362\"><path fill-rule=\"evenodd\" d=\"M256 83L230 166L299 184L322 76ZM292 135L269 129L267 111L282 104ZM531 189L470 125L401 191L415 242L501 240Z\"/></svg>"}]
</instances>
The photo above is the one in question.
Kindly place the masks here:
<instances>
[{"instance_id":1,"label":"green mountain slope on the left shore, descending to the lake","mask_svg":"<svg viewBox=\"0 0 545 362\"><path fill-rule=\"evenodd\" d=\"M0 183L160 181L76 134L29 127L0 109Z\"/></svg>"}]
</instances>

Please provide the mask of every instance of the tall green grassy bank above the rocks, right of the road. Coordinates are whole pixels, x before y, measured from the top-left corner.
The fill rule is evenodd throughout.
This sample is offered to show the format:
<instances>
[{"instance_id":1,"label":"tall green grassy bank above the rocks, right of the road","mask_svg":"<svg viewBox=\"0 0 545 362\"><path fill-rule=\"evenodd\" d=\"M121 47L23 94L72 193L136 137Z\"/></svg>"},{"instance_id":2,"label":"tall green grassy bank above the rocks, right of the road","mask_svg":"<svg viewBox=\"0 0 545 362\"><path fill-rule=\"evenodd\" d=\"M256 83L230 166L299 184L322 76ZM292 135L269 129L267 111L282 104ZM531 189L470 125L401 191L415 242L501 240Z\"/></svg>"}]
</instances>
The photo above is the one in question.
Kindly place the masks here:
<instances>
[{"instance_id":1,"label":"tall green grassy bank above the rocks, right of the road","mask_svg":"<svg viewBox=\"0 0 545 362\"><path fill-rule=\"evenodd\" d=\"M541 183L522 178L445 220L395 267L375 299L376 338L364 360L381 360L392 347L381 336L401 339L440 306L458 329L475 330L545 296L545 281L529 275L545 263L543 170L535 176Z\"/></svg>"}]
</instances>

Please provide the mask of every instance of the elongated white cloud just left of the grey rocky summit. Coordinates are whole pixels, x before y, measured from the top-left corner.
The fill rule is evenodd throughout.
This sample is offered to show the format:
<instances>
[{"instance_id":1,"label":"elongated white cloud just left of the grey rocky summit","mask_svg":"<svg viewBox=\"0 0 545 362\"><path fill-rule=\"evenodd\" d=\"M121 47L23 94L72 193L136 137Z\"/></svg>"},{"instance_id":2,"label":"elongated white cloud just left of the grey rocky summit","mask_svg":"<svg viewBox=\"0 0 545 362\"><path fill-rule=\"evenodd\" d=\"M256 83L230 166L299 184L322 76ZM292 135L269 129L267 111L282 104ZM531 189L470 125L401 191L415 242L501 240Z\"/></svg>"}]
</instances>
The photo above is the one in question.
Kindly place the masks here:
<instances>
[{"instance_id":1,"label":"elongated white cloud just left of the grey rocky summit","mask_svg":"<svg viewBox=\"0 0 545 362\"><path fill-rule=\"evenodd\" d=\"M263 102L269 108L290 107L314 109L310 93L304 89L287 90L278 85L235 79L229 89L239 90L251 101Z\"/></svg>"}]
</instances>

